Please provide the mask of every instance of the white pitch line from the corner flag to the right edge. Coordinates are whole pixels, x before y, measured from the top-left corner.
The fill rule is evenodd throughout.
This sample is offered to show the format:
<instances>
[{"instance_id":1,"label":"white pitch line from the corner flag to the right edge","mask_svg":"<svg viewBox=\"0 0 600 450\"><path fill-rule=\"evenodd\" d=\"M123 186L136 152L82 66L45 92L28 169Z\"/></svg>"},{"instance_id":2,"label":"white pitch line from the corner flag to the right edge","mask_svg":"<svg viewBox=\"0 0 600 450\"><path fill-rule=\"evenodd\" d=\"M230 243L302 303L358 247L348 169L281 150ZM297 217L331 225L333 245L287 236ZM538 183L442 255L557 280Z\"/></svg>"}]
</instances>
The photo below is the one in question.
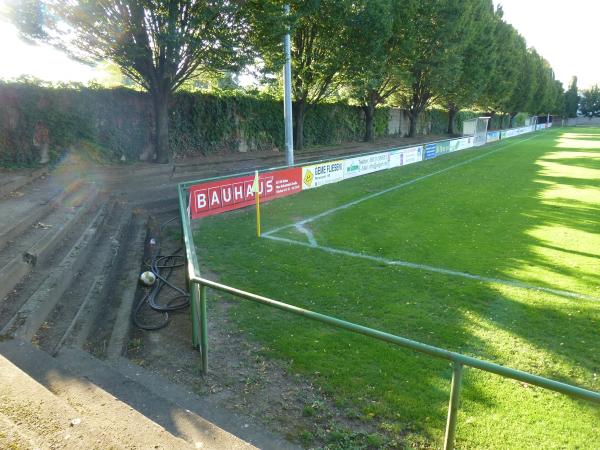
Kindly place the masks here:
<instances>
[{"instance_id":1,"label":"white pitch line from the corner flag to the right edge","mask_svg":"<svg viewBox=\"0 0 600 450\"><path fill-rule=\"evenodd\" d=\"M467 272L460 272L458 270L444 269L442 267L429 266L427 264L416 264L416 263L411 263L408 261L387 259L387 258L383 258L381 256L373 256L373 255L367 255L364 253L356 253L356 252L351 252L349 250L342 250L342 249L333 248L333 247L325 247L325 246L318 245L318 244L311 245L311 244L307 244L305 242L295 241L293 239L287 239L287 238L282 238L282 237L278 237L278 236L265 236L265 237L268 239L272 239L274 241L286 242L288 244L300 245L302 247L308 247L308 248L312 248L312 249L322 250L324 252L331 253L334 255L351 256L353 258L361 258L361 259L366 259L369 261L375 261L378 263L386 264L388 266L408 267L409 269L425 270L427 272L441 273L443 275L468 278L471 280L483 281L486 283L502 284L505 286L527 289L530 291L547 292L549 294L554 294L554 295L558 295L561 297L576 298L579 300L590 300L590 301L600 302L600 298L594 297L592 295L579 294L577 292L571 292L571 291L563 291L561 289L552 289L552 288L546 288L546 287L541 287L541 286L535 286L532 284L523 283L521 281L502 280L500 278L493 278L493 277L483 277L480 275L473 275L473 274L467 273Z\"/></svg>"}]
</instances>

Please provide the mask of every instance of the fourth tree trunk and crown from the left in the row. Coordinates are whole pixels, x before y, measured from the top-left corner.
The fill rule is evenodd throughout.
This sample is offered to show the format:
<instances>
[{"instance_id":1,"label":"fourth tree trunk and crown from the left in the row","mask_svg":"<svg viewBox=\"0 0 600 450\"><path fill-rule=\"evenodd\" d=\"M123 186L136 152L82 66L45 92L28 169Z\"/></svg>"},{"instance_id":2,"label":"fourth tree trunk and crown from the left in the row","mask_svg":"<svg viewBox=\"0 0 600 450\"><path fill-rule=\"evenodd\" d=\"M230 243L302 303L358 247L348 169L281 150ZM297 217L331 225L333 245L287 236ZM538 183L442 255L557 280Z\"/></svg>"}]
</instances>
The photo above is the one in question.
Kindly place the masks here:
<instances>
[{"instance_id":1,"label":"fourth tree trunk and crown from the left in the row","mask_svg":"<svg viewBox=\"0 0 600 450\"><path fill-rule=\"evenodd\" d=\"M458 0L410 0L398 9L403 24L398 35L403 88L395 99L408 112L412 137L421 113L458 83L468 8Z\"/></svg>"}]
</instances>

